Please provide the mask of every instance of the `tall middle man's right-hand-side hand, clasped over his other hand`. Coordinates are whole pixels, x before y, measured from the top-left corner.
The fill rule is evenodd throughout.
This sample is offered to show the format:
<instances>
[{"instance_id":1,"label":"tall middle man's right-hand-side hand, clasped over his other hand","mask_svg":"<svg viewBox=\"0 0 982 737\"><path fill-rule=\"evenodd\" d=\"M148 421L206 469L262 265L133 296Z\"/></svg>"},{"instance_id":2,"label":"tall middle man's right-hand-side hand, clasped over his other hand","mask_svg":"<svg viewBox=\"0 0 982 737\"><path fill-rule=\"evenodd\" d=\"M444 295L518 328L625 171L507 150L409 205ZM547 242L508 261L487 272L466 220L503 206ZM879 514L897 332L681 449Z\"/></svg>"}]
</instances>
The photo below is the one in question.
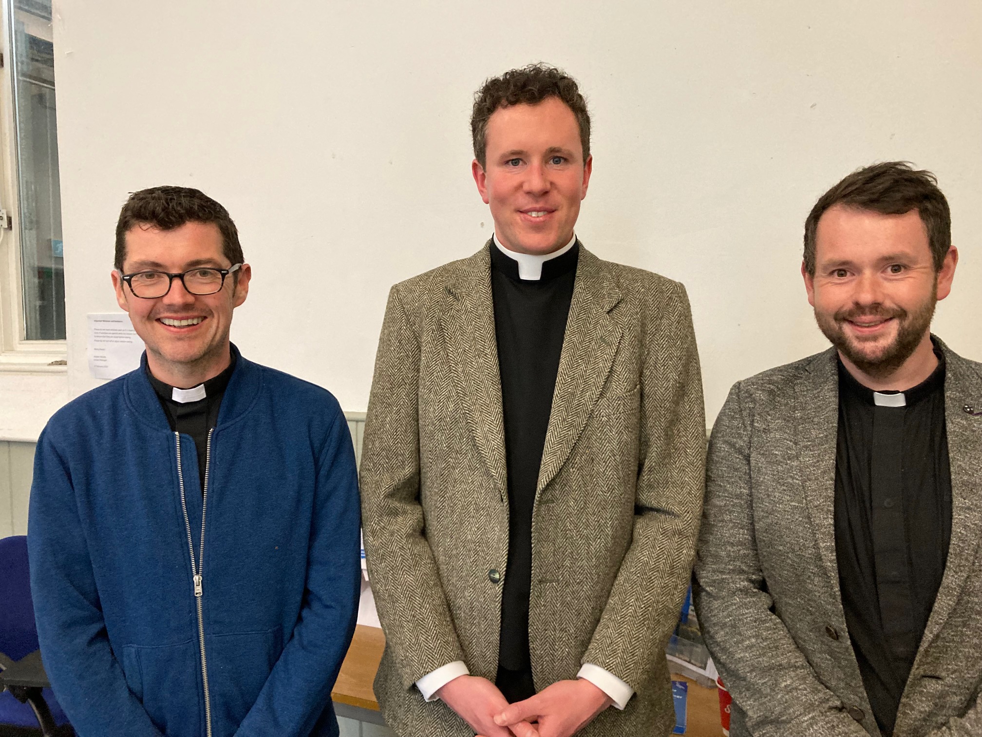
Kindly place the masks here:
<instances>
[{"instance_id":1,"label":"tall middle man's right-hand-side hand, clasped over his other hand","mask_svg":"<svg viewBox=\"0 0 982 737\"><path fill-rule=\"evenodd\" d=\"M557 681L530 699L502 709L494 722L509 727L517 737L570 737L613 703L585 678ZM520 726L535 721L534 728Z\"/></svg>"}]
</instances>

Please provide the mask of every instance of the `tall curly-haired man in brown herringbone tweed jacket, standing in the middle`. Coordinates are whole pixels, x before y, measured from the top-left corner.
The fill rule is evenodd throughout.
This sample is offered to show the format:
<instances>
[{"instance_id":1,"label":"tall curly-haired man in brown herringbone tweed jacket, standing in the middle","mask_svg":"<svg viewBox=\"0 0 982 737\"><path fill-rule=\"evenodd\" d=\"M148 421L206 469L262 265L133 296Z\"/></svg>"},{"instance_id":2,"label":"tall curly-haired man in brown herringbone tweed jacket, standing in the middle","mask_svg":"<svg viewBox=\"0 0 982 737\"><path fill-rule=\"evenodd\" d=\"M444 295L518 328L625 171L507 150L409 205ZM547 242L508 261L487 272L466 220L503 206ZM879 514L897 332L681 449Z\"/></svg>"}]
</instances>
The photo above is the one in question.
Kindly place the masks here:
<instances>
[{"instance_id":1,"label":"tall curly-haired man in brown herringbone tweed jacket, standing in the middle","mask_svg":"<svg viewBox=\"0 0 982 737\"><path fill-rule=\"evenodd\" d=\"M375 694L404 737L674 723L664 648L701 510L698 358L682 285L573 235L588 126L559 70L488 81L473 171L494 238L389 296L361 484L387 638Z\"/></svg>"}]
</instances>

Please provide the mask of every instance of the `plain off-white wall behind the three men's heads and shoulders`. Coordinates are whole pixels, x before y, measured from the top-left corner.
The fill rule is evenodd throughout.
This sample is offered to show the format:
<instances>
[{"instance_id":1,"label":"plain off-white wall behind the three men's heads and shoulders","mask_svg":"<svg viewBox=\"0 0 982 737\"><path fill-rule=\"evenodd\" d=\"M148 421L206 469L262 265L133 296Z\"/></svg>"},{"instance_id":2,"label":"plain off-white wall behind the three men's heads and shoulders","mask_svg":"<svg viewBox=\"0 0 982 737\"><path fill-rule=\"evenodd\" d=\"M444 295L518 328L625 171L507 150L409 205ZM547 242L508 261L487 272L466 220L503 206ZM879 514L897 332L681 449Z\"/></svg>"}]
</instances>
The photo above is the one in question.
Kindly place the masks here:
<instances>
[{"instance_id":1,"label":"plain off-white wall behind the three men's heads and shoulders","mask_svg":"<svg viewBox=\"0 0 982 737\"><path fill-rule=\"evenodd\" d=\"M710 422L736 379L825 347L801 225L874 160L937 173L961 263L936 329L982 359L978 0L61 0L56 14L72 395L93 385L85 313L116 310L119 207L166 183L239 224L246 355L363 410L389 286L490 234L471 94L535 60L591 105L581 239L688 287Z\"/></svg>"}]
</instances>

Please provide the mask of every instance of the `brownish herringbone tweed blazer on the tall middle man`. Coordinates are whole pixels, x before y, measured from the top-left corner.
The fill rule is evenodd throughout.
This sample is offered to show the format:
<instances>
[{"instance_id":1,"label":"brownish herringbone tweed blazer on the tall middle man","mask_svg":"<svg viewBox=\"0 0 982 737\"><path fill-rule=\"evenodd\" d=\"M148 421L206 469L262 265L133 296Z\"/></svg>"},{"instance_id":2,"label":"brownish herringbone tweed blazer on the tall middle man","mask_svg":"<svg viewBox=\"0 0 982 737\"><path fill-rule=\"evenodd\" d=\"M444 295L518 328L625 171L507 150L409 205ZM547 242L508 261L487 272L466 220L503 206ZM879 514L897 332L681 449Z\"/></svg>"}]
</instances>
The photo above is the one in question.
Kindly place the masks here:
<instances>
[{"instance_id":1,"label":"brownish herringbone tweed blazer on the tall middle man","mask_svg":"<svg viewBox=\"0 0 982 737\"><path fill-rule=\"evenodd\" d=\"M584 735L667 734L664 647L702 504L702 388L682 285L580 250L532 523L537 689L592 662L627 709ZM375 679L404 737L472 735L421 676L494 680L508 486L488 246L393 287L361 462L365 551L387 646Z\"/></svg>"}]
</instances>

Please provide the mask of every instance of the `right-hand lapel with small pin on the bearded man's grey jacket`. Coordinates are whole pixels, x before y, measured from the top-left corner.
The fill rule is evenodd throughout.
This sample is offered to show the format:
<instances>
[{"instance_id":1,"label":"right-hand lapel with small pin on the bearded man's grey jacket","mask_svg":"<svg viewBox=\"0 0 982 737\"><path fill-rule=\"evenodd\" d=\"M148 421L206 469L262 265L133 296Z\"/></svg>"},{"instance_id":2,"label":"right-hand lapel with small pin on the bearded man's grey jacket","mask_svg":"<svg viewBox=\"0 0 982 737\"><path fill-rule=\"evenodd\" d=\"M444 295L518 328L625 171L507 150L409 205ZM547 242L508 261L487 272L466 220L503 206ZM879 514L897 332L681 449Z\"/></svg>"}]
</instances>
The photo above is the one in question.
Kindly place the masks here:
<instances>
[{"instance_id":1,"label":"right-hand lapel with small pin on the bearded man's grey jacket","mask_svg":"<svg viewBox=\"0 0 982 737\"><path fill-rule=\"evenodd\" d=\"M982 539L982 416L972 414L982 411L982 377L940 340L938 344L947 363L945 425L952 469L952 540L921 651L952 613Z\"/></svg>"}]
</instances>

